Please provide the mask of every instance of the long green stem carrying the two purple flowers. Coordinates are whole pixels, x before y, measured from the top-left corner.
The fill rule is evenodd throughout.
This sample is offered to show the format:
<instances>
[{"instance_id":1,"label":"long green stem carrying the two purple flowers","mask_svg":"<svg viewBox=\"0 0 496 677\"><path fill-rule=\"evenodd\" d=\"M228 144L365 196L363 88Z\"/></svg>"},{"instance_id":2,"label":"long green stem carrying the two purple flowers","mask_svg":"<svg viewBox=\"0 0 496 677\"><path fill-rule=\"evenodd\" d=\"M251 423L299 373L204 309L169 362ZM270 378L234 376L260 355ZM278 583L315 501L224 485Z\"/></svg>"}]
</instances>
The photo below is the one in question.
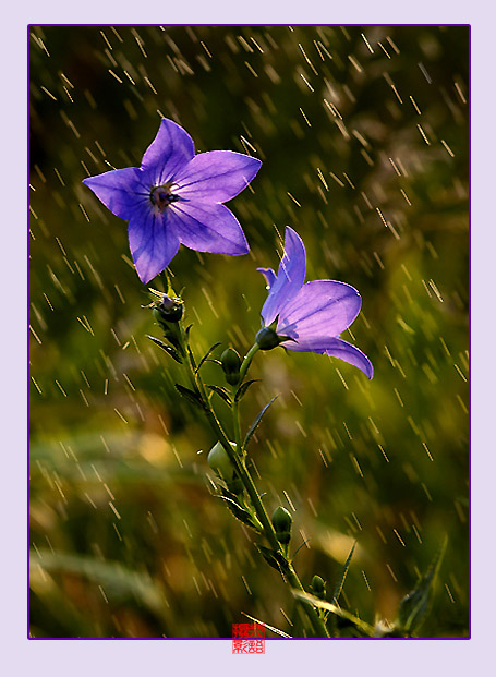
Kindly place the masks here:
<instances>
[{"instance_id":1,"label":"long green stem carrying the two purple flowers","mask_svg":"<svg viewBox=\"0 0 496 677\"><path fill-rule=\"evenodd\" d=\"M234 418L234 433L235 433L235 443L237 443L237 450L234 451L231 447L230 440L228 438L228 436L226 435L223 427L220 423L220 421L217 419L217 415L210 404L210 400L208 398L208 395L206 392L205 389L205 385L202 380L202 377L199 375L198 372L195 371L195 366L194 366L194 359L193 355L187 346L187 341L186 341L186 337L184 334L184 328L182 323L180 324L180 331L181 331L181 343L182 343L182 349L183 349L183 354L186 358L186 367L187 367L187 372L189 372L189 376L190 376L190 380L191 384L193 386L193 388L195 389L196 392L199 394L199 396L202 397L203 400L203 404L204 404L204 411L205 411L205 415L210 424L210 427L213 428L214 433L216 434L218 440L220 442L220 444L222 445L223 449L226 450L227 455L229 456L232 464L234 466L237 473L239 475L239 477L241 479L241 482L243 483L244 488L246 489L251 500L252 500L252 505L253 508L255 510L256 517L258 518L259 522L262 523L263 528L264 528L264 535L267 539L270 547L277 552L281 557L283 557L285 561L286 561L286 570L285 570L285 577L288 580L288 582L290 583L290 585L292 585L293 588L295 588L297 590L300 590L301 592L305 592L305 589L303 588L298 573L295 572L291 561L288 559L281 544L279 543L279 541L277 540L277 535L276 535L276 531L273 527L273 523L267 515L267 510L265 509L264 504L262 503L262 499L258 495L258 492L256 489L255 483L253 482L253 479L244 463L244 460L241 456L242 452L242 448L241 448L241 426L240 426L240 420L239 420L239 408L238 408L238 402L233 402L233 418ZM246 371L252 362L253 355L256 353L256 351L258 350L258 346L255 343L254 346L252 346L252 348L249 350L249 352L246 353L243 363L241 365L241 370L240 370L240 383L242 383ZM235 407L234 407L235 404ZM329 638L329 632L327 631L326 625L323 621L323 619L320 618L317 609L314 606L310 606L305 603L303 603L303 608L306 613L306 615L309 616L309 620L312 624L312 627L314 629L314 632L317 637L324 637L324 638Z\"/></svg>"}]
</instances>

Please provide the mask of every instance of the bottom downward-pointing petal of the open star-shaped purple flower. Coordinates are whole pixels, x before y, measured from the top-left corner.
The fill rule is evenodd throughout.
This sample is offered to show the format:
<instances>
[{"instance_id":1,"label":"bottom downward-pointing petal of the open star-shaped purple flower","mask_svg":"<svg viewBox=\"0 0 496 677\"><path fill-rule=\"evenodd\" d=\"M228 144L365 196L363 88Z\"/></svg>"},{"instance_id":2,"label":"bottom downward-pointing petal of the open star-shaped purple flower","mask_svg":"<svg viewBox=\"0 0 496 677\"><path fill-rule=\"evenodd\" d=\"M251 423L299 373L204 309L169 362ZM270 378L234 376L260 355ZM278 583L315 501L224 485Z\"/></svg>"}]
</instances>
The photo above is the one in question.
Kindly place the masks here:
<instances>
[{"instance_id":1,"label":"bottom downward-pointing petal of the open star-shaped purple flower","mask_svg":"<svg viewBox=\"0 0 496 677\"><path fill-rule=\"evenodd\" d=\"M164 214L136 209L129 223L129 243L142 282L161 273L174 257L179 239Z\"/></svg>"}]
</instances>

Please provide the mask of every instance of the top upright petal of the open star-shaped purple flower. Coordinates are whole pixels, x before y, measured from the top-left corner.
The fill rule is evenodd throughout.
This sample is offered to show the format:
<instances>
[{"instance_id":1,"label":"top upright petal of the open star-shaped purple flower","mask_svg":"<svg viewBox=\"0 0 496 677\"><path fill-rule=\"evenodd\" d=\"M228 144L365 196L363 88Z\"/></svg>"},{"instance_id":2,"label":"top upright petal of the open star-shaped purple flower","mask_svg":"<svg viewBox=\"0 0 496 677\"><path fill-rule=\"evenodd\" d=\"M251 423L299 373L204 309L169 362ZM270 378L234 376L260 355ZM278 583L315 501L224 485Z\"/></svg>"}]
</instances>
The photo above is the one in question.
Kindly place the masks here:
<instances>
[{"instance_id":1,"label":"top upright petal of the open star-shaped purple flower","mask_svg":"<svg viewBox=\"0 0 496 677\"><path fill-rule=\"evenodd\" d=\"M155 185L161 185L193 159L194 154L195 146L190 134L172 120L165 119L143 156L142 169L153 178Z\"/></svg>"}]
</instances>

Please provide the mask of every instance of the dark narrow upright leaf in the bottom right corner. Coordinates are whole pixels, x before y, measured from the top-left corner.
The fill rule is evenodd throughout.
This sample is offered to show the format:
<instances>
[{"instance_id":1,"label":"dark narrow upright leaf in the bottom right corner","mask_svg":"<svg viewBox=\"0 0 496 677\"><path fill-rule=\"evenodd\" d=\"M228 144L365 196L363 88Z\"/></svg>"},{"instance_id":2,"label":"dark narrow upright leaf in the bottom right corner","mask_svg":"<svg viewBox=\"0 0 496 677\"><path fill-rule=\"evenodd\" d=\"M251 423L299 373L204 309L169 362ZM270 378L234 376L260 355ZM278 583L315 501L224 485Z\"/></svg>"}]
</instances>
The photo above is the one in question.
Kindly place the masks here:
<instances>
[{"instance_id":1,"label":"dark narrow upright leaf in the bottom right corner","mask_svg":"<svg viewBox=\"0 0 496 677\"><path fill-rule=\"evenodd\" d=\"M437 578L437 573L445 556L448 537L445 536L436 556L432 560L427 571L416 583L415 588L401 600L398 607L398 616L395 621L395 628L399 629L407 636L415 632L427 616L432 597L433 588Z\"/></svg>"}]
</instances>

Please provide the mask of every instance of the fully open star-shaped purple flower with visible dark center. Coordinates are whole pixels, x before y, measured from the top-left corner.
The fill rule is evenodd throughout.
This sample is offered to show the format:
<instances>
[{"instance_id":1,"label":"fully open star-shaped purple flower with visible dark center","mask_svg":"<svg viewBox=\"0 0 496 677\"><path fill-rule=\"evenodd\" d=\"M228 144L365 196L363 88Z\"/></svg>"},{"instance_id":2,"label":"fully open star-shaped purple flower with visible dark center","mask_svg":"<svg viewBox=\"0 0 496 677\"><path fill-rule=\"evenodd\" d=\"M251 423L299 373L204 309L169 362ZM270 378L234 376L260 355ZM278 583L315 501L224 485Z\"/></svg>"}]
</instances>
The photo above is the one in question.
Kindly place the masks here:
<instances>
[{"instance_id":1,"label":"fully open star-shaped purple flower with visible dark center","mask_svg":"<svg viewBox=\"0 0 496 677\"><path fill-rule=\"evenodd\" d=\"M169 265L180 244L197 252L249 252L238 219L222 203L245 189L261 165L231 150L195 156L191 136L176 122L162 120L140 169L116 169L83 183L129 221L134 264L141 280L148 282Z\"/></svg>"}]
</instances>

